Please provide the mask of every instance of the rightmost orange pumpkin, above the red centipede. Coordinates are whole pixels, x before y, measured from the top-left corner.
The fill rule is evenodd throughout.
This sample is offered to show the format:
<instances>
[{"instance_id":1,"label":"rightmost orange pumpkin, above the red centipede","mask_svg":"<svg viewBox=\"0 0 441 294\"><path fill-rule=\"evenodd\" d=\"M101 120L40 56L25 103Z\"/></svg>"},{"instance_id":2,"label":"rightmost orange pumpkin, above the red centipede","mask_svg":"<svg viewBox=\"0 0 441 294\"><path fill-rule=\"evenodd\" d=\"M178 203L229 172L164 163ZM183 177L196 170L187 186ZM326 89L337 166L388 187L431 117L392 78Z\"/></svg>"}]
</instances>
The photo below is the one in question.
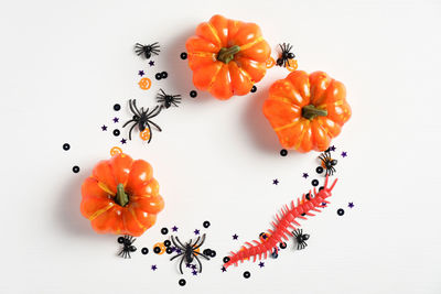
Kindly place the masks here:
<instances>
[{"instance_id":1,"label":"rightmost orange pumpkin, above the red centipede","mask_svg":"<svg viewBox=\"0 0 441 294\"><path fill-rule=\"evenodd\" d=\"M351 118L346 90L326 73L295 70L271 85L263 115L284 149L324 151Z\"/></svg>"}]
</instances>

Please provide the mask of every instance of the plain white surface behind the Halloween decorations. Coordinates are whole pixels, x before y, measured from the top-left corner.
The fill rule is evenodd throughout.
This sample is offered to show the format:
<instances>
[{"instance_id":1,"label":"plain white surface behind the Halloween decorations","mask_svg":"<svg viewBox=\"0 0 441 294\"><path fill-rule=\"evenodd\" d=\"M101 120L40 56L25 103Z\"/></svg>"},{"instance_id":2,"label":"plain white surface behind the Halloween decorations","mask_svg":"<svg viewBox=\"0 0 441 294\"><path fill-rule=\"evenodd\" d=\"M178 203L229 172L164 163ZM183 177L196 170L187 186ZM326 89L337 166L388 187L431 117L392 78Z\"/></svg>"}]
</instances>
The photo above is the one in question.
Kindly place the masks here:
<instances>
[{"instance_id":1,"label":"plain white surface behind the Halloween decorations","mask_svg":"<svg viewBox=\"0 0 441 294\"><path fill-rule=\"evenodd\" d=\"M290 241L263 269L244 263L226 273L222 257L310 188L318 153L281 157L261 113L284 69L269 70L245 97L189 97L191 70L179 54L215 13L258 23L273 50L292 43L299 68L343 81L353 108L333 141L340 182L332 204L302 222L308 249ZM439 1L3 1L0 292L441 293L440 17ZM149 67L133 45L155 41L161 54ZM139 69L153 81L148 91L137 85ZM157 81L162 70L169 78ZM120 140L111 119L130 117L129 98L153 106L160 87L182 94L181 107L158 117L163 132L150 145L136 134L122 149L153 165L165 199L139 250L162 241L162 227L176 225L185 240L212 222L206 247L217 257L200 276L186 271L184 287L169 257L117 258L116 237L96 235L79 214L82 182Z\"/></svg>"}]
</instances>

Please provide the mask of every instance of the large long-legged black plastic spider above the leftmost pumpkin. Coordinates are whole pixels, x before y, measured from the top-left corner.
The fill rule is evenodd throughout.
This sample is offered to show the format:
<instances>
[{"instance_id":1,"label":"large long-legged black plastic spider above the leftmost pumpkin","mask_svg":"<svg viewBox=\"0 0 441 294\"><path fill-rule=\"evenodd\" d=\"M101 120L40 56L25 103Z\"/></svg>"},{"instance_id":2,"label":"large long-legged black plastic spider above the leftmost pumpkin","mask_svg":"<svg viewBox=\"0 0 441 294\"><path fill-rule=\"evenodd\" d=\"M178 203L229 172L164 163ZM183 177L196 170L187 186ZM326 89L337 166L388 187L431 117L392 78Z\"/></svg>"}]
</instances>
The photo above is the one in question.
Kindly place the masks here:
<instances>
[{"instance_id":1,"label":"large long-legged black plastic spider above the leftmost pumpkin","mask_svg":"<svg viewBox=\"0 0 441 294\"><path fill-rule=\"evenodd\" d=\"M130 122L133 122L133 126L131 126L130 131L129 131L129 140L131 140L131 131L133 130L133 128L136 126L138 126L138 129L140 132L146 130L146 126L147 126L147 128L149 128L149 132L150 132L150 138L149 138L148 143L150 143L150 141L153 137L151 128L150 128L150 123L153 124L158 129L158 131L160 131L160 132L162 131L161 128L157 123L151 121L152 118L154 118L155 116L158 116L161 112L162 106L157 106L150 112L149 112L149 108L144 111L143 107L141 107L141 111L140 111L137 107L137 99L133 99L133 104L131 102L131 99L130 99L129 107L130 107L131 112L133 113L133 118L131 120L127 121L122 126L122 128L125 128Z\"/></svg>"}]
</instances>

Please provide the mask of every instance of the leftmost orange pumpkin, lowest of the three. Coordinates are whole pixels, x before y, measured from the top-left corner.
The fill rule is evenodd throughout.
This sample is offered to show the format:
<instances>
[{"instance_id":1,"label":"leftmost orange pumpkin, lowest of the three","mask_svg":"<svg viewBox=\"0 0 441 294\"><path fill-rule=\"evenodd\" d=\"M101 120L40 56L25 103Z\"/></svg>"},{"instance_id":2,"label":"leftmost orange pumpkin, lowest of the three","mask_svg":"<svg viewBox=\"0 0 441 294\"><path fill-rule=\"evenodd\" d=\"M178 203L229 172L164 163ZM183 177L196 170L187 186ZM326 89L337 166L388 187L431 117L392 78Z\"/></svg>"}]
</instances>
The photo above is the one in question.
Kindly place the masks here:
<instances>
[{"instance_id":1,"label":"leftmost orange pumpkin, lowest of the three","mask_svg":"<svg viewBox=\"0 0 441 294\"><path fill-rule=\"evenodd\" d=\"M141 236L164 207L151 165L123 153L98 162L82 195L80 211L99 233Z\"/></svg>"}]
</instances>

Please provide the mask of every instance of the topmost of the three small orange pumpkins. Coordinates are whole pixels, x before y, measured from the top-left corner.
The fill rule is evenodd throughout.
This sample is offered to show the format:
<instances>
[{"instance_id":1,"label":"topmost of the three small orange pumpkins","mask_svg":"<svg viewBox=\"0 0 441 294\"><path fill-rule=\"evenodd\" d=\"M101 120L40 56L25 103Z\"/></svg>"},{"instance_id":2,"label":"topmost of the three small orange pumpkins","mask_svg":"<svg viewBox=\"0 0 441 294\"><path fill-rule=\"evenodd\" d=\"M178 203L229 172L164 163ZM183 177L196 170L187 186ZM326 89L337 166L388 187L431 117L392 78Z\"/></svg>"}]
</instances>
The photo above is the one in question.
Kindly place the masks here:
<instances>
[{"instance_id":1,"label":"topmost of the three small orange pumpkins","mask_svg":"<svg viewBox=\"0 0 441 294\"><path fill-rule=\"evenodd\" d=\"M186 41L193 84L220 100L248 94L262 79L271 48L255 23L214 15Z\"/></svg>"}]
</instances>

